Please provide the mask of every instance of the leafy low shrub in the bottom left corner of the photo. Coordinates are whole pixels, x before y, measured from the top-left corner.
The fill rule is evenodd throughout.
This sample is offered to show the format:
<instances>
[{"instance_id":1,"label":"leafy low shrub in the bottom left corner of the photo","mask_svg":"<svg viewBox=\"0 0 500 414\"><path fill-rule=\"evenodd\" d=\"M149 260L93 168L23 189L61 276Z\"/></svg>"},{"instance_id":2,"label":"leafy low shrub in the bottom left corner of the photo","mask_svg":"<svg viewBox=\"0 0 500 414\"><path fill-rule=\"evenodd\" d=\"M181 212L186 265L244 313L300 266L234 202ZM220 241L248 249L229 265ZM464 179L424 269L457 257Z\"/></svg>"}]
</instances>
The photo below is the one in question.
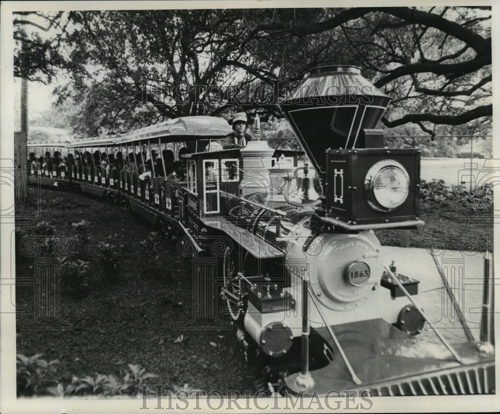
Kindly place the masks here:
<instances>
[{"instance_id":1,"label":"leafy low shrub in the bottom left corner of the photo","mask_svg":"<svg viewBox=\"0 0 500 414\"><path fill-rule=\"evenodd\" d=\"M46 388L57 383L55 377L56 364L54 359L47 362L41 359L42 354L24 356L18 353L16 357L17 396L29 396L46 393Z\"/></svg>"}]
</instances>

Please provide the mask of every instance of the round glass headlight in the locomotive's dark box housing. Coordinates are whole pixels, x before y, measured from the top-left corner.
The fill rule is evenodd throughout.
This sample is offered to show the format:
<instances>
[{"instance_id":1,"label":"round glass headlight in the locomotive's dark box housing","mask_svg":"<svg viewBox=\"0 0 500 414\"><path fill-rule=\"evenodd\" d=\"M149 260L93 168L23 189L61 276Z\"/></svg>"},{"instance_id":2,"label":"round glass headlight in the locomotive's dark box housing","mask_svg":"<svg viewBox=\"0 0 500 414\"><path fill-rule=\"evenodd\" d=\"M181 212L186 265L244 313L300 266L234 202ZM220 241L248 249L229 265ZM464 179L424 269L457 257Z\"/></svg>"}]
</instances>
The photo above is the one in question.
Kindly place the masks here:
<instances>
[{"instance_id":1,"label":"round glass headlight in the locomotive's dark box housing","mask_svg":"<svg viewBox=\"0 0 500 414\"><path fill-rule=\"evenodd\" d=\"M392 211L408 197L409 175L393 159L374 163L364 178L368 204L377 211Z\"/></svg>"}]
</instances>

